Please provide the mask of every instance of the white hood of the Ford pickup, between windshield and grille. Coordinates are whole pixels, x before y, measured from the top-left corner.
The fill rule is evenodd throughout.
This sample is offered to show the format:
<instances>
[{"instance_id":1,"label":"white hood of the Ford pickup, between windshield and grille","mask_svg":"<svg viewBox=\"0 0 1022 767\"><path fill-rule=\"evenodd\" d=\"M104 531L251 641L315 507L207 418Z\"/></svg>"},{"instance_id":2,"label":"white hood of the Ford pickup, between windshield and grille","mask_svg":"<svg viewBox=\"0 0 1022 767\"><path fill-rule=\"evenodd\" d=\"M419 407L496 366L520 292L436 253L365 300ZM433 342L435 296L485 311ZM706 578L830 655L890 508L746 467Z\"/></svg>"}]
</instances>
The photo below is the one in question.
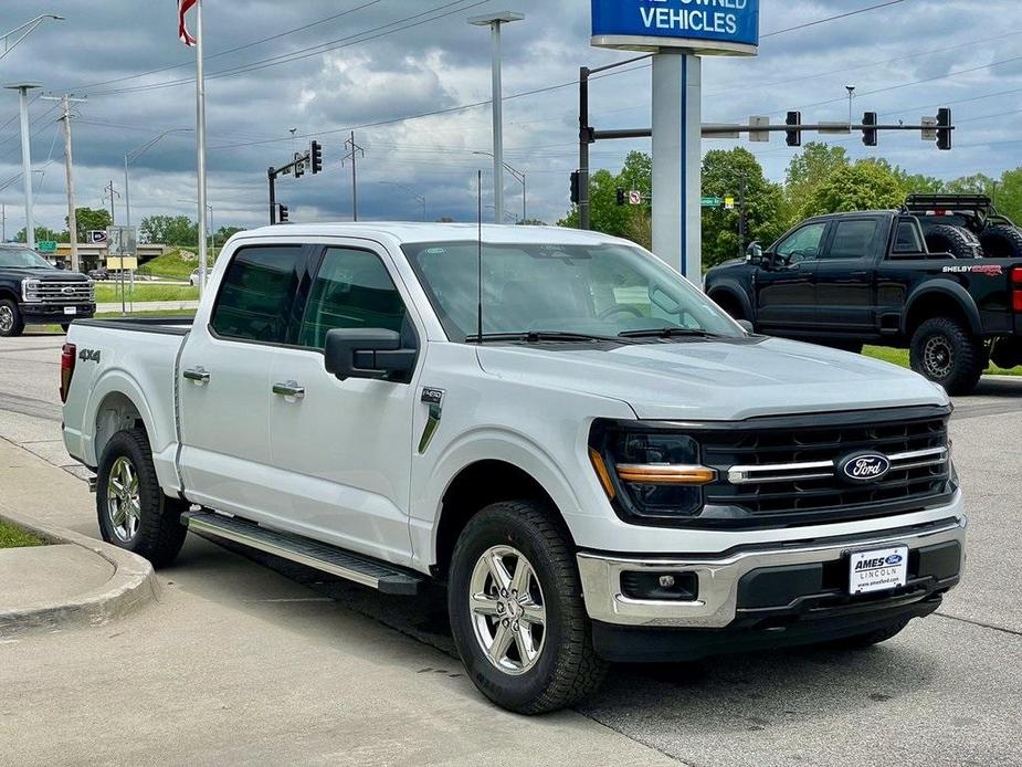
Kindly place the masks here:
<instances>
[{"instance_id":1,"label":"white hood of the Ford pickup, between windshield and grille","mask_svg":"<svg viewBox=\"0 0 1022 767\"><path fill-rule=\"evenodd\" d=\"M501 378L628 402L640 419L757 416L946 404L944 390L878 360L799 342L679 342L607 348L483 346Z\"/></svg>"}]
</instances>

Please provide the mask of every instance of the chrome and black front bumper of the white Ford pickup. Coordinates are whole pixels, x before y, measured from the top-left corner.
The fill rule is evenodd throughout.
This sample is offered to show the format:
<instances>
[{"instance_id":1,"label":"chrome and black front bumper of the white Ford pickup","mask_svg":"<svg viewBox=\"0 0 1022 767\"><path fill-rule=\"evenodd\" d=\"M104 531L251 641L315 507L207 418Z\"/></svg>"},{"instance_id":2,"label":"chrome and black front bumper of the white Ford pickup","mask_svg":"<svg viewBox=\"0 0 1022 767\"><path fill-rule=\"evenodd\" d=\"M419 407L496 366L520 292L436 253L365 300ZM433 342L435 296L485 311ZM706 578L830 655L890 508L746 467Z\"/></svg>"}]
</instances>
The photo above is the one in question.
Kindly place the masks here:
<instances>
[{"instance_id":1,"label":"chrome and black front bumper of the white Ford pickup","mask_svg":"<svg viewBox=\"0 0 1022 767\"><path fill-rule=\"evenodd\" d=\"M963 516L953 516L866 535L737 547L719 556L641 557L581 551L578 566L586 609L597 623L632 629L719 630L765 620L783 622L821 611L870 613L925 602L958 582L966 524ZM849 554L891 545L909 548L906 586L879 597L847 596ZM698 593L691 601L625 596L622 574L643 571L694 574Z\"/></svg>"}]
</instances>

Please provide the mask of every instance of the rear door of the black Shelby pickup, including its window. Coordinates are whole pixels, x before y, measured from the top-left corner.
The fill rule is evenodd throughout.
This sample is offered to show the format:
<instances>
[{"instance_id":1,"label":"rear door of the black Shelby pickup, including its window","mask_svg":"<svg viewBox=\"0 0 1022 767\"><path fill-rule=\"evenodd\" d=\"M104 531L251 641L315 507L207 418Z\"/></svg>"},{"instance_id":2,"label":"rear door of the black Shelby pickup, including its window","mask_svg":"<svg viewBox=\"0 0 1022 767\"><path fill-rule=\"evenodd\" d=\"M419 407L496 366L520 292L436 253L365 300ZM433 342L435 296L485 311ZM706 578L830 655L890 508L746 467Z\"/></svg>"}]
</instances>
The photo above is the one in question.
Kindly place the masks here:
<instances>
[{"instance_id":1,"label":"rear door of the black Shelby pickup, including its window","mask_svg":"<svg viewBox=\"0 0 1022 767\"><path fill-rule=\"evenodd\" d=\"M816 324L846 334L876 330L876 264L887 249L889 219L849 217L831 224L813 281Z\"/></svg>"}]
</instances>

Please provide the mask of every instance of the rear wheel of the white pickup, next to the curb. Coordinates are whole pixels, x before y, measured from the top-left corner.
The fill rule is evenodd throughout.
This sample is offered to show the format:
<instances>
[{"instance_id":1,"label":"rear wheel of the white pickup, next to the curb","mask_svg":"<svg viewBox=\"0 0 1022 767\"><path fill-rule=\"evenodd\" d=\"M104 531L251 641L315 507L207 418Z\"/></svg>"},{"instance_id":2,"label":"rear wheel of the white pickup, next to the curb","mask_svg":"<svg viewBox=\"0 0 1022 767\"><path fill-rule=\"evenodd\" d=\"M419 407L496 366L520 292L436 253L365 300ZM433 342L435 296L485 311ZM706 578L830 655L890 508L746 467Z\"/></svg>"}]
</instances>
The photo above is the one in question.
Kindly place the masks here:
<instances>
[{"instance_id":1,"label":"rear wheel of the white pickup, next to the curb","mask_svg":"<svg viewBox=\"0 0 1022 767\"><path fill-rule=\"evenodd\" d=\"M124 525L117 523L120 515L115 506L124 502L115 501L109 492L112 474L122 460L129 462L137 483L138 514L131 526L127 518ZM117 485L114 486L116 493ZM96 482L96 512L106 543L145 557L154 567L170 565L188 534L188 528L181 524L181 512L187 508L188 504L167 497L160 490L145 431L127 429L110 438L99 460Z\"/></svg>"}]
</instances>

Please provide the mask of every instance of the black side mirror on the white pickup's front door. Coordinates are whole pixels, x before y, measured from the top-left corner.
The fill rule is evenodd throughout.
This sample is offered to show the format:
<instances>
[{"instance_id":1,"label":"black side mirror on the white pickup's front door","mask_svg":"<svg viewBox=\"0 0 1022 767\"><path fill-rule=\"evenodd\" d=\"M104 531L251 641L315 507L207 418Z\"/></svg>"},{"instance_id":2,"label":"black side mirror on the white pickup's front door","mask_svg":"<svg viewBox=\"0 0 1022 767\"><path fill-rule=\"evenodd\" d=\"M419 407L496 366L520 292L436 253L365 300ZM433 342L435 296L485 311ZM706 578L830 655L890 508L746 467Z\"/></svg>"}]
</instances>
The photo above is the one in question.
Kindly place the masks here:
<instances>
[{"instance_id":1,"label":"black side mirror on the white pickup's front door","mask_svg":"<svg viewBox=\"0 0 1022 767\"><path fill-rule=\"evenodd\" d=\"M339 380L408 382L419 349L401 347L401 334L383 328L335 328L326 334L324 366Z\"/></svg>"}]
</instances>

